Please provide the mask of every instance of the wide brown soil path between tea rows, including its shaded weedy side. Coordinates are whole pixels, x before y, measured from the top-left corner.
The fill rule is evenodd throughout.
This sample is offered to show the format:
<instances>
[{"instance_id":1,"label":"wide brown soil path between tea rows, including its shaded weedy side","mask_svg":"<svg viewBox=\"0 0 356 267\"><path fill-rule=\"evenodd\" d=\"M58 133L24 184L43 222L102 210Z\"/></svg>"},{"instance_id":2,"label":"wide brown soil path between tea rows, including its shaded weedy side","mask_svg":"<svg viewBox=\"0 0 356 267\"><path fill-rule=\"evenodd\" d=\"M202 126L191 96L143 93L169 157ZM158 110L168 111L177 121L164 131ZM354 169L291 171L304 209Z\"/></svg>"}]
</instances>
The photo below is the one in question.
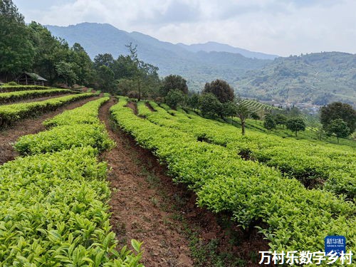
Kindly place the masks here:
<instances>
[{"instance_id":1,"label":"wide brown soil path between tea rows, including its shaded weedy side","mask_svg":"<svg viewBox=\"0 0 356 267\"><path fill-rule=\"evenodd\" d=\"M157 157L110 120L114 101L100 108L99 117L117 144L102 157L112 168L111 225L120 245L143 241L147 267L259 266L258 251L268 250L263 237L241 231L229 214L198 208L195 194L174 184Z\"/></svg>"}]
</instances>

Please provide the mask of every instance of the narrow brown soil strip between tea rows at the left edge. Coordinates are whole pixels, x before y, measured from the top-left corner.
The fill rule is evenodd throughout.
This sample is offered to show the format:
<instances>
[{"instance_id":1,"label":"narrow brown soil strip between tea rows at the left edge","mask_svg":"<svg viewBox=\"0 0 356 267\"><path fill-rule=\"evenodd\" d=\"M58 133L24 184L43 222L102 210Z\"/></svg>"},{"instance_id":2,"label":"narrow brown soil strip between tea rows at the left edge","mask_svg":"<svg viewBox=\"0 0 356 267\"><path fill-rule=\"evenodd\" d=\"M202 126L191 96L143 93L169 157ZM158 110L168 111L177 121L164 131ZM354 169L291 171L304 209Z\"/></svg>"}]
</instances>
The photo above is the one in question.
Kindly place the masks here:
<instances>
[{"instance_id":1,"label":"narrow brown soil strip between tea rows at the left edge","mask_svg":"<svg viewBox=\"0 0 356 267\"><path fill-rule=\"evenodd\" d=\"M58 97L58 96L57 96ZM47 112L36 118L27 118L25 120L20 120L15 122L14 125L6 127L4 130L0 130L0 164L4 164L9 160L13 160L18 153L14 150L11 143L16 142L22 135L35 134L46 130L42 125L43 120L47 120L50 117L54 117L64 110L73 110L73 108L78 108L81 105L89 102L90 100L97 99L98 97L85 98L83 100L64 105L58 108L56 111ZM38 98L39 99L39 98Z\"/></svg>"}]
</instances>

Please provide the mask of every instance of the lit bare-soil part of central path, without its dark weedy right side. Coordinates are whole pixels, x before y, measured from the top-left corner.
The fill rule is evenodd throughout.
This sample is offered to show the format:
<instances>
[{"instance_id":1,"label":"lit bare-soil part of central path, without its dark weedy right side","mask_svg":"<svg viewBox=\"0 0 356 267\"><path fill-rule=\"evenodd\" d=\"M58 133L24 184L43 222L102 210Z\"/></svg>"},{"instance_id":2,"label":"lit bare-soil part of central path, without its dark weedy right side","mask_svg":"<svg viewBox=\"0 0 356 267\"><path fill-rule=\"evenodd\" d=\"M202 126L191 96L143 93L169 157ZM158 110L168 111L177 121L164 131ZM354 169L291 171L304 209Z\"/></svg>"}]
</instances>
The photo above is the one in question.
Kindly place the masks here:
<instances>
[{"instance_id":1,"label":"lit bare-soil part of central path, without its dark weedy right side","mask_svg":"<svg viewBox=\"0 0 356 267\"><path fill-rule=\"evenodd\" d=\"M105 152L103 159L112 168L109 174L112 198L112 229L121 245L131 239L144 242L145 266L193 266L186 236L172 224L173 212L159 194L159 173L147 169L151 159L144 155L120 130L112 130L109 109L113 100L100 109L100 120L105 122L117 147ZM137 153L140 153L138 155ZM157 159L155 159L157 162ZM155 164L155 163L153 163ZM152 166L153 167L153 166Z\"/></svg>"}]
</instances>

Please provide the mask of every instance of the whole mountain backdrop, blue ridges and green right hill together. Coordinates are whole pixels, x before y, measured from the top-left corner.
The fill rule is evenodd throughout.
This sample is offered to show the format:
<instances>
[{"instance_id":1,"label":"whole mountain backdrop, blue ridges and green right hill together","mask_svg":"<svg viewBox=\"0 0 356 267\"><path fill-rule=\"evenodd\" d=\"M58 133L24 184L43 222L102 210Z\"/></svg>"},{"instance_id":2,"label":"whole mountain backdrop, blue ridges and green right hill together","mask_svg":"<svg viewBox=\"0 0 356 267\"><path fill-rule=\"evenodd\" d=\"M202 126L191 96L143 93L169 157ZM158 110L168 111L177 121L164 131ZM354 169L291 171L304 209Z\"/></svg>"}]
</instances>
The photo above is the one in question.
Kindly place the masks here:
<instances>
[{"instance_id":1,"label":"whole mountain backdrop, blue ridges and green right hill together","mask_svg":"<svg viewBox=\"0 0 356 267\"><path fill-rule=\"evenodd\" d=\"M91 58L99 53L127 55L125 45L137 45L142 61L159 67L159 75L182 75L189 89L224 79L248 98L324 105L331 100L355 104L356 56L312 53L281 58L213 41L186 45L169 43L139 32L128 33L107 23L46 26L69 45L80 43Z\"/></svg>"}]
</instances>

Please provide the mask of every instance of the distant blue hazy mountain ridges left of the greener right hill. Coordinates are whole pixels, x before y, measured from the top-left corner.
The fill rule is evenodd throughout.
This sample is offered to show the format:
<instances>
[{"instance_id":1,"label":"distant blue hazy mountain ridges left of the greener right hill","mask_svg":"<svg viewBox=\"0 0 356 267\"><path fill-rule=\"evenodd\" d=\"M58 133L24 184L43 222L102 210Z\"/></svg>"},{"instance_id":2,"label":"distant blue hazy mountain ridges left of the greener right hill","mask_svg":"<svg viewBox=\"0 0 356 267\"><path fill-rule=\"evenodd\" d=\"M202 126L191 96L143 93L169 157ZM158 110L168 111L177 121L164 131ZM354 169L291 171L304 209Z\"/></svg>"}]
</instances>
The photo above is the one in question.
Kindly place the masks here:
<instances>
[{"instance_id":1,"label":"distant blue hazy mountain ridges left of the greener right hill","mask_svg":"<svg viewBox=\"0 0 356 267\"><path fill-rule=\"evenodd\" d=\"M75 26L47 26L54 36L65 38L69 44L80 43L91 58L99 53L111 53L115 58L127 54L125 45L137 45L138 57L159 67L162 76L182 75L189 88L199 89L208 81L222 78L234 82L246 70L262 68L271 60L246 58L226 51L189 51L181 45L159 41L142 33L127 33L110 24L80 23ZM254 57L257 57L256 55Z\"/></svg>"}]
</instances>

